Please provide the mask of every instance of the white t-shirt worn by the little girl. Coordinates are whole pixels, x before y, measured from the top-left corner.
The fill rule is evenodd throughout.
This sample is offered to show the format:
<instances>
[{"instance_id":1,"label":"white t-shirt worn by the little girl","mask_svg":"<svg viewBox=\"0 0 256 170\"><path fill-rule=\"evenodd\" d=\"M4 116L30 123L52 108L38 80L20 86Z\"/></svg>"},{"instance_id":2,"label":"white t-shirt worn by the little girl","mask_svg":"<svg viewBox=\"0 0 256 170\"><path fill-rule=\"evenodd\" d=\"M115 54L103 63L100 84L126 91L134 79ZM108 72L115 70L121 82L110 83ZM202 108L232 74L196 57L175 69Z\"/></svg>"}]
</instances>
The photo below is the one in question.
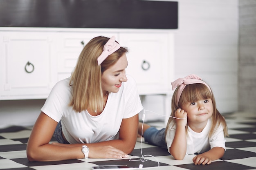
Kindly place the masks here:
<instances>
[{"instance_id":1,"label":"white t-shirt worn by the little girl","mask_svg":"<svg viewBox=\"0 0 256 170\"><path fill-rule=\"evenodd\" d=\"M223 126L218 127L216 132L209 138L209 132L211 130L212 120L208 119L207 125L202 130L202 132L194 132L190 127L188 127L188 134L186 137L186 155L188 154L201 154L207 152L213 147L222 147L226 150L225 147L225 137L223 132ZM173 128L167 130L166 133L166 143L168 152L170 152L171 144L173 143L173 138L176 131L176 125Z\"/></svg>"}]
</instances>

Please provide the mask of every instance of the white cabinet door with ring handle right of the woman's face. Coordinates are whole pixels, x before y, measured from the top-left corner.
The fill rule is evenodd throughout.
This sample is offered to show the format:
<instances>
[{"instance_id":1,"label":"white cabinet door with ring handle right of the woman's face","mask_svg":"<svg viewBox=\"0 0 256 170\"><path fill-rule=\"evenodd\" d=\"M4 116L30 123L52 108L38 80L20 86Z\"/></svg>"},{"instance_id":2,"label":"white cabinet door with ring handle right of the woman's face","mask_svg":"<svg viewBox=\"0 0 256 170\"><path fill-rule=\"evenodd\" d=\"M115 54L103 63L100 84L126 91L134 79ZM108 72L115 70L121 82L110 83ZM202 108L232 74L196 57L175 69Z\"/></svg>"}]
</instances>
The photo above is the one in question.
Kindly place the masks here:
<instances>
[{"instance_id":1,"label":"white cabinet door with ring handle right of the woman's face","mask_svg":"<svg viewBox=\"0 0 256 170\"><path fill-rule=\"evenodd\" d=\"M126 73L135 78L139 94L168 93L168 33L120 33L119 38L129 49Z\"/></svg>"}]
</instances>

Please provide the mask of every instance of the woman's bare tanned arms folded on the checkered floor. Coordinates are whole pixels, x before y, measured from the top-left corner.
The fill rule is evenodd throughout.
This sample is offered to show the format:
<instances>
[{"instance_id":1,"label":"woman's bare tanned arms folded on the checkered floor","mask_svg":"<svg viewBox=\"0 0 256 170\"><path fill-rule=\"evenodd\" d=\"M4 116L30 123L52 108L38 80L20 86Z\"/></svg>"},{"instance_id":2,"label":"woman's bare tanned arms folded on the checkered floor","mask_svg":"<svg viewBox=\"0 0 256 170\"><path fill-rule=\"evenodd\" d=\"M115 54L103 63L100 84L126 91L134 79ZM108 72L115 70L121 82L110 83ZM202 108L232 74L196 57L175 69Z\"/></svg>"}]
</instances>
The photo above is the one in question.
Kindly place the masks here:
<instances>
[{"instance_id":1,"label":"woman's bare tanned arms folded on the checkered floor","mask_svg":"<svg viewBox=\"0 0 256 170\"><path fill-rule=\"evenodd\" d=\"M84 144L49 144L57 122L41 112L31 131L27 143L27 158L29 161L59 161L84 158L81 151ZM127 157L137 139L138 114L123 119L119 139L86 144L90 158L122 158Z\"/></svg>"}]
</instances>

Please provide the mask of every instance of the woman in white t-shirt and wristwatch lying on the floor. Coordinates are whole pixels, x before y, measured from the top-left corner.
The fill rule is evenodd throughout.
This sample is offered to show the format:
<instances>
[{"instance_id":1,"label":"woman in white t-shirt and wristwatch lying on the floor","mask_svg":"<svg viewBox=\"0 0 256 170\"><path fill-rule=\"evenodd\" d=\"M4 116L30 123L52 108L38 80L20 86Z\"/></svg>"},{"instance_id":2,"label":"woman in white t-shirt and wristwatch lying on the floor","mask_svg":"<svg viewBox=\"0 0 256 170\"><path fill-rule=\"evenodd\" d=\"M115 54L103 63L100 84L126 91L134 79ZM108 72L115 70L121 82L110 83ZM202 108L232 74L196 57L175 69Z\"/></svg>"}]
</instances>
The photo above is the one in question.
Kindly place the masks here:
<instances>
[{"instance_id":1,"label":"woman in white t-shirt and wristwatch lying on the floor","mask_svg":"<svg viewBox=\"0 0 256 170\"><path fill-rule=\"evenodd\" d=\"M128 157L142 106L126 75L126 52L115 37L85 45L71 77L54 86L41 109L27 144L29 161ZM53 134L58 143L49 144Z\"/></svg>"}]
</instances>

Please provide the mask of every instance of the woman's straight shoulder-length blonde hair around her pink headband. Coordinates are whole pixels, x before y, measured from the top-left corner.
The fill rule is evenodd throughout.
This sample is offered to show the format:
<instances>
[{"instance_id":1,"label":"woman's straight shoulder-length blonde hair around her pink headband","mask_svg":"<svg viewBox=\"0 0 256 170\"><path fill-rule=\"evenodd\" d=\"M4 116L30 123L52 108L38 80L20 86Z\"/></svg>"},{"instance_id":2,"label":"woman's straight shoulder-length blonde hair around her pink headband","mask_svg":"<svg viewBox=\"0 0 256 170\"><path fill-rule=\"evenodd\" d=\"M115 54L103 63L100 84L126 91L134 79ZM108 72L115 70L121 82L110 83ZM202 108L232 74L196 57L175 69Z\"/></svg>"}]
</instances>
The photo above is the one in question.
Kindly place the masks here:
<instances>
[{"instance_id":1,"label":"woman's straight shoulder-length blonde hair around her pink headband","mask_svg":"<svg viewBox=\"0 0 256 170\"><path fill-rule=\"evenodd\" d=\"M76 112L81 112L89 107L92 110L102 111L105 106L101 89L101 75L128 52L126 47L121 47L98 65L97 58L101 55L103 46L109 39L103 36L93 38L79 55L70 79L72 98L69 106Z\"/></svg>"}]
</instances>

